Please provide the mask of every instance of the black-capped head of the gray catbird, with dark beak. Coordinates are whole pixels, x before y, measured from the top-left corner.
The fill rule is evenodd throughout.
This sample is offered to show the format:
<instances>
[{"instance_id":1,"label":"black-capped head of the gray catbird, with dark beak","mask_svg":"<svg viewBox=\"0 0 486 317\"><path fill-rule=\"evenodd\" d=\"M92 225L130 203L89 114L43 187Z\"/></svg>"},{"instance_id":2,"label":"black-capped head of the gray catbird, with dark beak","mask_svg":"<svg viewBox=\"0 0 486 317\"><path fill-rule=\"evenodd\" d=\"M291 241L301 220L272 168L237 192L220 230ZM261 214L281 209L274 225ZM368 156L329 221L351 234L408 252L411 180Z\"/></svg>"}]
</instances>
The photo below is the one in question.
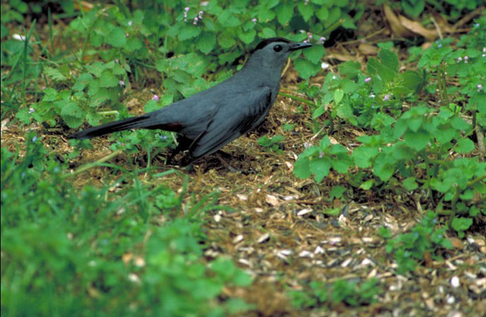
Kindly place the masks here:
<instances>
[{"instance_id":1,"label":"black-capped head of the gray catbird, with dark beak","mask_svg":"<svg viewBox=\"0 0 486 317\"><path fill-rule=\"evenodd\" d=\"M311 46L309 43L293 42L286 38L266 38L252 50L250 60L263 67L281 68L291 52Z\"/></svg>"}]
</instances>

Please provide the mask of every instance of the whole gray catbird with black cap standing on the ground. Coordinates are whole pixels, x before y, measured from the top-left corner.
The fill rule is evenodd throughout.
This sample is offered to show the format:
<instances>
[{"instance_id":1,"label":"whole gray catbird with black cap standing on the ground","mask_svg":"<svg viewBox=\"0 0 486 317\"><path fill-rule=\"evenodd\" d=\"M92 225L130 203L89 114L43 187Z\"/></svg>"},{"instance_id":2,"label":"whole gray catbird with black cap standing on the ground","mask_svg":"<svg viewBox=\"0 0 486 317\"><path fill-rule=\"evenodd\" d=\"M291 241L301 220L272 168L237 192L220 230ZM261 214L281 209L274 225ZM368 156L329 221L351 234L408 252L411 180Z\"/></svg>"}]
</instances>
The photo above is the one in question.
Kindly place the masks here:
<instances>
[{"instance_id":1,"label":"whole gray catbird with black cap standing on the ground","mask_svg":"<svg viewBox=\"0 0 486 317\"><path fill-rule=\"evenodd\" d=\"M82 130L69 138L93 138L132 128L178 133L174 154L188 150L181 165L189 165L259 126L280 89L288 55L308 48L286 38L267 38L252 50L244 67L229 79L157 111Z\"/></svg>"}]
</instances>

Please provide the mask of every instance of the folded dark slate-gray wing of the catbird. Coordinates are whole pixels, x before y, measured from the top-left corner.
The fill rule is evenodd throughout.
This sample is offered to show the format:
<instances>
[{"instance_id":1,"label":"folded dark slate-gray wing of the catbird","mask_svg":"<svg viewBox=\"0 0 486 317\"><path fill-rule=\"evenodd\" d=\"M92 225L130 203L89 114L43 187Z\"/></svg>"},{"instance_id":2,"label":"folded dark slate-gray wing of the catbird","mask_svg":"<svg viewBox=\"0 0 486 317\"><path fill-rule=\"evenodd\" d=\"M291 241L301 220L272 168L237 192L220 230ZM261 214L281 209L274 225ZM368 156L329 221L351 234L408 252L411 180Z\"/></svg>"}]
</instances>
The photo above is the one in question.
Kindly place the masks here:
<instances>
[{"instance_id":1,"label":"folded dark slate-gray wing of the catbird","mask_svg":"<svg viewBox=\"0 0 486 317\"><path fill-rule=\"evenodd\" d=\"M192 162L222 148L252 128L271 106L271 89L260 87L239 94L239 100L227 104L215 114L207 128L193 141L186 160ZM189 162L188 162L189 163Z\"/></svg>"}]
</instances>

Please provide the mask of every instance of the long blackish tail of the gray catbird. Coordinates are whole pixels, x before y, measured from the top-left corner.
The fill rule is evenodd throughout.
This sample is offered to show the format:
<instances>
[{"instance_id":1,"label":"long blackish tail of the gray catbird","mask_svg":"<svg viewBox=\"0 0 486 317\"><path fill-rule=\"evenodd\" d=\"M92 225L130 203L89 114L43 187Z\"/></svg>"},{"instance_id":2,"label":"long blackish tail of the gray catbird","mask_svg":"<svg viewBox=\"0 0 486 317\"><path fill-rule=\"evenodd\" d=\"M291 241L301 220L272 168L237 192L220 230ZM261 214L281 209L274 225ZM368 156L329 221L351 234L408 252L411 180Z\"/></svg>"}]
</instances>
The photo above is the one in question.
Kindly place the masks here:
<instances>
[{"instance_id":1,"label":"long blackish tail of the gray catbird","mask_svg":"<svg viewBox=\"0 0 486 317\"><path fill-rule=\"evenodd\" d=\"M162 125L157 125L157 120L156 118L154 118L154 116L151 116L149 113L147 113L142 116L126 118L120 121L115 121L115 122L103 124L101 126L88 128L86 130L79 131L78 133L69 135L69 138L86 139L86 138L94 138L96 136L105 135L117 131L130 130L134 128L153 129L159 127L164 129Z\"/></svg>"}]
</instances>

